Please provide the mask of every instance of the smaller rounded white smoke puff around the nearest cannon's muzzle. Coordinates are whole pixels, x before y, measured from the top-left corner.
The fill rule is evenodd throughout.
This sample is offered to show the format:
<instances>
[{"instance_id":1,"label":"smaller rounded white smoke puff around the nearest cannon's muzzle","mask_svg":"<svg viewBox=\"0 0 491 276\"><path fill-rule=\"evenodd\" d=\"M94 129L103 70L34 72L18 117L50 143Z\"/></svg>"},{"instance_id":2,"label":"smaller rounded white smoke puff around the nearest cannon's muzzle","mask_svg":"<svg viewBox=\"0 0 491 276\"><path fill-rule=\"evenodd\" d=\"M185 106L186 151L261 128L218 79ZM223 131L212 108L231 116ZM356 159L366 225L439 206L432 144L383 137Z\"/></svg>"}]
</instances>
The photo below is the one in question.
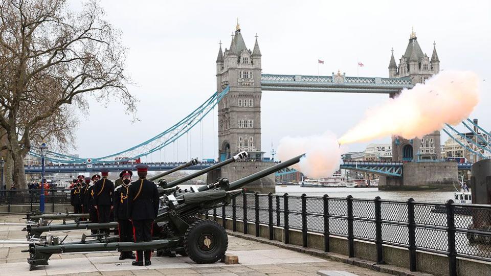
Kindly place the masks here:
<instances>
[{"instance_id":1,"label":"smaller rounded white smoke puff around the nearest cannon's muzzle","mask_svg":"<svg viewBox=\"0 0 491 276\"><path fill-rule=\"evenodd\" d=\"M342 149L336 135L325 132L307 137L284 137L278 146L281 161L302 153L305 157L293 168L312 178L328 177L339 169Z\"/></svg>"}]
</instances>

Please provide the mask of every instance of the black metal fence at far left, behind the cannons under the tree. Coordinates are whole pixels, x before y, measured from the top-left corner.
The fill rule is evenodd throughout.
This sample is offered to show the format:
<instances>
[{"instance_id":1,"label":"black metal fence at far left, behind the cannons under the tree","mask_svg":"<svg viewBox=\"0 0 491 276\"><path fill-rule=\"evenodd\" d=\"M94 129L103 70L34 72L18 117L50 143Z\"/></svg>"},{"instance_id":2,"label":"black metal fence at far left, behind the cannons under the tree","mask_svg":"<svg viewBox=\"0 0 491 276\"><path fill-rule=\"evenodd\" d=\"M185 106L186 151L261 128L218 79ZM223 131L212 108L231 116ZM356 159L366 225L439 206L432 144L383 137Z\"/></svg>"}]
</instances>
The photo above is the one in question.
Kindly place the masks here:
<instances>
[{"instance_id":1,"label":"black metal fence at far left, behind the cannons under the tree","mask_svg":"<svg viewBox=\"0 0 491 276\"><path fill-rule=\"evenodd\" d=\"M0 190L0 205L8 205L8 212L10 212L11 205L18 204L30 205L30 211L34 211L39 209L40 196L40 189ZM51 204L52 210L54 210L56 204L70 204L70 190L62 188L44 190L44 203L47 210L49 204Z\"/></svg>"}]
</instances>

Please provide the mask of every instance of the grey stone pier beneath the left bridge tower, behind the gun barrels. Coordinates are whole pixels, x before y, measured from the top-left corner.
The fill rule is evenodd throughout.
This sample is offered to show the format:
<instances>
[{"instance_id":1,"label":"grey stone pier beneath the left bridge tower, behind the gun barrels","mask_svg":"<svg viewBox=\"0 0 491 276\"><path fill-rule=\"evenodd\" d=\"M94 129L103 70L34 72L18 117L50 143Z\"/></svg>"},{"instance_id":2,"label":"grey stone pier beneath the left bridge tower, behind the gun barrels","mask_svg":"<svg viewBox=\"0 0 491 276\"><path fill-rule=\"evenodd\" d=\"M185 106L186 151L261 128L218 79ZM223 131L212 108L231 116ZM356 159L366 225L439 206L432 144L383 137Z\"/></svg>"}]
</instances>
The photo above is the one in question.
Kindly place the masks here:
<instances>
[{"instance_id":1,"label":"grey stone pier beneath the left bridge tower, behind the gun barrels","mask_svg":"<svg viewBox=\"0 0 491 276\"><path fill-rule=\"evenodd\" d=\"M274 166L273 162L235 162L207 174L207 182L211 183L218 177L227 177L231 182L249 176L258 171ZM258 179L244 187L248 192L275 192L275 174Z\"/></svg>"}]
</instances>

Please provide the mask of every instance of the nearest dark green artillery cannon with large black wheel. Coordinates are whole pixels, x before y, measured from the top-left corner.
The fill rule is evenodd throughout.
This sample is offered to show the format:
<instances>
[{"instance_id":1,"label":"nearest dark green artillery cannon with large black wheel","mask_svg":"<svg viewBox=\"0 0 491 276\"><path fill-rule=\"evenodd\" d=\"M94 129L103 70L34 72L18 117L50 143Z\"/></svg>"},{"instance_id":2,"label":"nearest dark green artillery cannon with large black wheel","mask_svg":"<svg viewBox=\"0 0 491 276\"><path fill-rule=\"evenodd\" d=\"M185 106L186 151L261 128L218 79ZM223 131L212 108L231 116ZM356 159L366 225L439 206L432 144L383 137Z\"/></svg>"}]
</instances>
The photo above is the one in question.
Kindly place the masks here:
<instances>
[{"instance_id":1,"label":"nearest dark green artillery cannon with large black wheel","mask_svg":"<svg viewBox=\"0 0 491 276\"><path fill-rule=\"evenodd\" d=\"M175 197L170 195L163 202L163 211L155 219L165 223L166 231L160 233L158 240L151 242L103 242L92 244L29 244L28 263L30 270L37 265L48 265L52 254L86 251L130 251L166 249L184 252L196 263L215 263L225 255L228 237L225 228L213 220L198 219L188 223L185 218L230 204L232 198L240 195L244 185L266 175L297 164L303 155L264 169L233 182L205 185L202 192L189 192ZM199 188L198 188L199 190Z\"/></svg>"}]
</instances>

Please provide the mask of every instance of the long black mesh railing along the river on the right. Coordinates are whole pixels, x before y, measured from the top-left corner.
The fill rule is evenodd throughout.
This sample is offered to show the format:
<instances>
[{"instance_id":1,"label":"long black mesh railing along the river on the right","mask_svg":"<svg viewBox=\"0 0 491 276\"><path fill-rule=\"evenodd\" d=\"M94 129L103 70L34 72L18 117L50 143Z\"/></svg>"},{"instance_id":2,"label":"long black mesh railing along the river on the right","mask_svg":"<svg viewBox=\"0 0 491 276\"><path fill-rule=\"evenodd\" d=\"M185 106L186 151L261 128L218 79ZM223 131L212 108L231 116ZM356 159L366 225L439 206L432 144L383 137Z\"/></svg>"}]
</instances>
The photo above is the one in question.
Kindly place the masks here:
<instances>
[{"instance_id":1,"label":"long black mesh railing along the river on the right","mask_svg":"<svg viewBox=\"0 0 491 276\"><path fill-rule=\"evenodd\" d=\"M344 237L349 257L354 257L354 240L375 243L378 263L384 260L383 245L404 247L411 271L416 271L416 250L447 255L450 275L457 273L456 257L491 262L491 205L244 193L206 215L232 219L233 231L242 221L245 234L247 223L254 223L256 236L259 225L267 225L271 240L273 226L282 227L285 243L288 229L296 229L303 234L304 247L308 232ZM328 238L324 249L330 251Z\"/></svg>"}]
</instances>

